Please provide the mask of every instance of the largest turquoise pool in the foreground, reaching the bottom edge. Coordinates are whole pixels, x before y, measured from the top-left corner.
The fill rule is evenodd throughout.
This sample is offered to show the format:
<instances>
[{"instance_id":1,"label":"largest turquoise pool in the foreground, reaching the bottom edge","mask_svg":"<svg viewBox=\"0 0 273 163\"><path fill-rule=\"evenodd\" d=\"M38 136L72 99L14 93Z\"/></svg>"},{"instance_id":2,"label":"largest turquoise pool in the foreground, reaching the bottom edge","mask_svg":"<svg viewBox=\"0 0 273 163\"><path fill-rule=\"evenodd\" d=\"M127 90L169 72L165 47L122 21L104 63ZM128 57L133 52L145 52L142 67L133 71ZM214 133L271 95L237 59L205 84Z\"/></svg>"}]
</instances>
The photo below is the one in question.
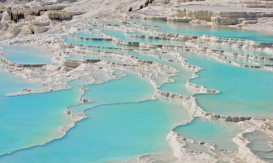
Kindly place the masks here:
<instances>
[{"instance_id":1,"label":"largest turquoise pool in the foreground, reaching the bottom edge","mask_svg":"<svg viewBox=\"0 0 273 163\"><path fill-rule=\"evenodd\" d=\"M181 106L157 100L102 105L86 115L88 118L76 123L63 138L6 155L0 161L112 162L169 152L168 131L187 117Z\"/></svg>"}]
</instances>

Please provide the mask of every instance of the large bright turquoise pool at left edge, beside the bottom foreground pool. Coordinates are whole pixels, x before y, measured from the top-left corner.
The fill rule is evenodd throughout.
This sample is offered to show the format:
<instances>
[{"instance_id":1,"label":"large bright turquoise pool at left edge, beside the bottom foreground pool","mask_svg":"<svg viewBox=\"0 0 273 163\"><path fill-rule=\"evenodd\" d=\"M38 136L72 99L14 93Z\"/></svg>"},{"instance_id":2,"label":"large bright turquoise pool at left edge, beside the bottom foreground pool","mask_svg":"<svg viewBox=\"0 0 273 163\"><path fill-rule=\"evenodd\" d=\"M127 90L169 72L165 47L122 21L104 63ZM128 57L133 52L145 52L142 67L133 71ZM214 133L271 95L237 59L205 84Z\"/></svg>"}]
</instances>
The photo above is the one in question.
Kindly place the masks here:
<instances>
[{"instance_id":1,"label":"large bright turquoise pool at left edge, beside the bottom foreground pool","mask_svg":"<svg viewBox=\"0 0 273 163\"><path fill-rule=\"evenodd\" d=\"M0 96L0 154L44 144L71 125L64 109L78 103L80 88L48 93ZM62 97L62 98L59 98Z\"/></svg>"}]
</instances>

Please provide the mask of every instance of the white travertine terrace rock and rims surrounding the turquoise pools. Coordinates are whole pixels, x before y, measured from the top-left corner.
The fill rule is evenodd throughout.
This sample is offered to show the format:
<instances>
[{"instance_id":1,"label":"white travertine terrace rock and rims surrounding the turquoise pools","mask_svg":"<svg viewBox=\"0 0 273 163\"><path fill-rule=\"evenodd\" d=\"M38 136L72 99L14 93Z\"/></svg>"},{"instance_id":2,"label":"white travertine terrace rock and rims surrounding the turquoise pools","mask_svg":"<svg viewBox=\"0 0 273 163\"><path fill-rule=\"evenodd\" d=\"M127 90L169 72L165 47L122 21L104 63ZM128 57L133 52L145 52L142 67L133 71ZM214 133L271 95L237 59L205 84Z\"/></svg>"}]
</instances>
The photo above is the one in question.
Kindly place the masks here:
<instances>
[{"instance_id":1,"label":"white travertine terrace rock and rims surrounding the turquoise pools","mask_svg":"<svg viewBox=\"0 0 273 163\"><path fill-rule=\"evenodd\" d=\"M129 7L132 6L133 10L135 10L138 9L142 3L144 3L142 0L0 1L0 46L35 46L48 50L53 55L52 64L18 64L5 58L4 54L6 53L0 49L1 71L17 74L27 79L30 83L39 85L34 89L22 89L19 92L6 95L68 89L69 86L67 82L75 79L81 79L86 84L99 84L120 78L120 76L113 73L114 71L121 72L121 74L123 72L139 74L142 78L152 83L156 89L154 93L155 99L183 105L188 109L191 119L194 117L202 117L212 122L234 123L236 124L236 128L242 129L243 131L233 138L233 142L239 146L238 151L233 151L229 149L218 149L214 144L209 142L200 142L190 138L184 138L171 130L169 134L166 135L166 139L173 153L141 156L138 159L139 162L265 162L248 148L249 141L244 137L244 134L260 131L266 134L272 141L273 120L207 112L198 106L195 97L159 90L164 83L174 82L170 77L175 76L179 70L156 61L142 60L142 58L134 57L126 53L113 52L111 50L128 50L158 58L166 63L177 63L184 69L191 70L193 72L192 78L198 78L198 75L195 73L203 68L187 63L186 59L180 56L176 50L195 52L197 55L212 58L216 62L223 64L273 72L273 64L271 64L273 55L271 57L254 56L199 45L201 43L207 43L247 50L259 50L260 52L272 54L272 42L158 32L156 27L147 27L146 30L138 30L138 28L143 27L143 25L124 21L125 18L141 18L207 24L212 26L228 25L233 28L272 33L273 2L269 0L206 0L193 2L186 0L155 0L144 9L127 12ZM120 22L120 25L114 25L113 23L107 25L102 23L103 20L111 21L113 19ZM93 24L93 26L88 23ZM129 25L132 25L132 27L129 27ZM124 41L120 38L104 34L103 30L97 29L96 27L108 30L121 30L125 36L129 38L173 41L178 42L179 45ZM96 31L96 34L92 33L92 30ZM143 33L146 32L147 34L130 34L130 32L137 30ZM88 34L92 35L92 37L88 38L73 35L75 32L86 31L90 31ZM113 43L114 47L67 43L62 37L63 35L67 35L68 38L79 41L93 40L110 42ZM95 48L102 48L103 50L96 50ZM167 57L175 59L159 57L155 53L167 54ZM72 54L79 56L81 59L67 59L67 57L71 57ZM103 58L84 59L86 56L98 56ZM107 61L105 58L113 59L113 62ZM243 64L239 61L248 64ZM33 76L32 74L40 74L41 76ZM185 86L186 89L192 93L221 93L221 90L208 89L202 85L191 83L190 80L186 82ZM84 94L85 91L86 89L83 90L82 94ZM91 102L89 99L83 97L79 99L79 103L89 102ZM76 121L81 121L83 118L86 118L84 113L76 114L68 108L65 108L64 112L69 115L74 122L71 126L63 126L61 130L63 134L65 134L69 128L73 127ZM190 123L190 121L185 122L185 124L186 123ZM213 155L206 152L186 149L186 143L206 146Z\"/></svg>"}]
</instances>

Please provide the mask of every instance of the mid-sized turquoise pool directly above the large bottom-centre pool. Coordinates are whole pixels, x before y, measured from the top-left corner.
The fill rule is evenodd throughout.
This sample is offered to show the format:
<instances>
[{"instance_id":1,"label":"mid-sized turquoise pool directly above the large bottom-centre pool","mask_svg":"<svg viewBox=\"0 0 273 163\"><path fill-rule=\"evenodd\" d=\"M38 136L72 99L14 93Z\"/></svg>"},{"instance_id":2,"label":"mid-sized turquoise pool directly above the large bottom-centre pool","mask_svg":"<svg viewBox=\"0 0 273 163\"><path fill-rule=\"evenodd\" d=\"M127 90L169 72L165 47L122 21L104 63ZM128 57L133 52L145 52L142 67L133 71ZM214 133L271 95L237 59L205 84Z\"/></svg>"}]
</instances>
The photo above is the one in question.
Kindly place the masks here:
<instances>
[{"instance_id":1,"label":"mid-sized turquoise pool directly above the large bottom-centre pool","mask_svg":"<svg viewBox=\"0 0 273 163\"><path fill-rule=\"evenodd\" d=\"M81 114L83 108L92 108L104 104L138 102L152 98L155 89L151 83L136 74L126 73L126 75L126 77L118 80L86 86L85 88L88 90L83 98L90 99L93 102L71 106L69 109L76 114Z\"/></svg>"}]
</instances>

